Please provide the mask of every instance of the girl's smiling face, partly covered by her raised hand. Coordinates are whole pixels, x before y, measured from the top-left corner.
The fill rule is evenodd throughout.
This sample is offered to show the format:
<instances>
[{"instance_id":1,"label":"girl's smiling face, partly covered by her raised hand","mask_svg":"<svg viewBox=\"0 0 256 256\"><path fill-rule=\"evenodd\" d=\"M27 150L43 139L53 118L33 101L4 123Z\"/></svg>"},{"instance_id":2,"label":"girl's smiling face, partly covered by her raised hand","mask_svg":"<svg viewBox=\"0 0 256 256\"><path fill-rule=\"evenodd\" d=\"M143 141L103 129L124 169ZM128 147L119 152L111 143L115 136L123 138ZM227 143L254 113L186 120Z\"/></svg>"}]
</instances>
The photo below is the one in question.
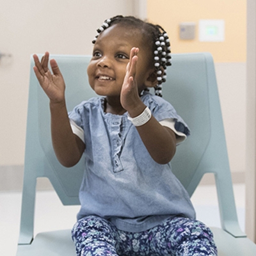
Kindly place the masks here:
<instances>
[{"instance_id":1,"label":"girl's smiling face, partly covered by her raised hand","mask_svg":"<svg viewBox=\"0 0 256 256\"><path fill-rule=\"evenodd\" d=\"M100 33L87 69L90 86L98 95L120 97L132 47L140 49L135 76L139 93L148 86L154 73L152 52L139 29L115 24Z\"/></svg>"}]
</instances>

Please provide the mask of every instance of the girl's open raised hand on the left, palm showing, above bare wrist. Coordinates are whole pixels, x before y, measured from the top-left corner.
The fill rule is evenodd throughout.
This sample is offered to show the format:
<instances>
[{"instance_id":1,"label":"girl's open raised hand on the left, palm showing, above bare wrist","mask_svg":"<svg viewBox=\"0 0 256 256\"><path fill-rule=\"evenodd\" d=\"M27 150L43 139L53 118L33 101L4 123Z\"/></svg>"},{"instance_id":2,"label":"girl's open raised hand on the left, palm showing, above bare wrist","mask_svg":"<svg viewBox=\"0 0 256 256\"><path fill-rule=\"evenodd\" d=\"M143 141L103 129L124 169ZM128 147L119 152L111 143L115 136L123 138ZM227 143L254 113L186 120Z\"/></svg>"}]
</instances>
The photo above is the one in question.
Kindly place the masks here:
<instances>
[{"instance_id":1,"label":"girl's open raised hand on the left, palm showing, above bare wrist","mask_svg":"<svg viewBox=\"0 0 256 256\"><path fill-rule=\"evenodd\" d=\"M49 52L45 52L42 60L36 54L33 55L35 67L33 67L40 85L49 97L51 103L61 103L65 101L65 82L60 72L56 60L51 60L52 73L48 68Z\"/></svg>"}]
</instances>

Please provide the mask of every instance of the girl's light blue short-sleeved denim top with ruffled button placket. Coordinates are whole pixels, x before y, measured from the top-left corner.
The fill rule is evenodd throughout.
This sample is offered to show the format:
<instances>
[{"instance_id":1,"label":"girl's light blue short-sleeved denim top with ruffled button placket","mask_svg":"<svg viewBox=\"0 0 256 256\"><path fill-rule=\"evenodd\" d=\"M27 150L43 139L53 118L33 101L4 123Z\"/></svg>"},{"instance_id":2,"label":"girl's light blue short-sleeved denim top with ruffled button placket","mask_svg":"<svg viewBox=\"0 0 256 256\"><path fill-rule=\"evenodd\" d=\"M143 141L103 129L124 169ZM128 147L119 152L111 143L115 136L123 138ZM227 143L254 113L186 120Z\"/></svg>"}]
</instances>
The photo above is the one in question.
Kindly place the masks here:
<instances>
[{"instance_id":1,"label":"girl's light blue short-sleeved denim top with ruffled button placket","mask_svg":"<svg viewBox=\"0 0 256 256\"><path fill-rule=\"evenodd\" d=\"M175 129L189 135L173 106L145 92L141 100L158 120L173 118ZM141 232L172 216L195 219L186 189L171 164L158 164L124 115L104 113L104 97L81 102L69 118L84 131L84 177L77 220L96 215L118 229Z\"/></svg>"}]
</instances>

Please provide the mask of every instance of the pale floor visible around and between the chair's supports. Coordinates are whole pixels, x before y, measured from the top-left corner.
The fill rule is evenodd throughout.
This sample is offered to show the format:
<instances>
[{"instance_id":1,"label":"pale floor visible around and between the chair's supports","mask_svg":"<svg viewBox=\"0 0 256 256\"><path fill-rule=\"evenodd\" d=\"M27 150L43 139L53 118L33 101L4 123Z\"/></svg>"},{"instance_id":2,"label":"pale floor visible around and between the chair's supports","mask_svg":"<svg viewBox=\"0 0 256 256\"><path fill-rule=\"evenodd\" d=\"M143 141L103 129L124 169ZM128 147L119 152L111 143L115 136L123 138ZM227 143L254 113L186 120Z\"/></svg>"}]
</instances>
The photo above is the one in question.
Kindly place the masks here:
<instances>
[{"instance_id":1,"label":"pale floor visible around and between the chair's supports","mask_svg":"<svg viewBox=\"0 0 256 256\"><path fill-rule=\"evenodd\" d=\"M244 184L234 185L237 215L244 230ZM209 227L220 227L218 202L214 186L198 186L192 202L197 219ZM0 192L0 255L15 256L19 237L20 192ZM71 228L76 221L79 206L63 206L54 191L38 191L36 197L35 234L56 229ZM54 218L56 217L56 218Z\"/></svg>"}]
</instances>

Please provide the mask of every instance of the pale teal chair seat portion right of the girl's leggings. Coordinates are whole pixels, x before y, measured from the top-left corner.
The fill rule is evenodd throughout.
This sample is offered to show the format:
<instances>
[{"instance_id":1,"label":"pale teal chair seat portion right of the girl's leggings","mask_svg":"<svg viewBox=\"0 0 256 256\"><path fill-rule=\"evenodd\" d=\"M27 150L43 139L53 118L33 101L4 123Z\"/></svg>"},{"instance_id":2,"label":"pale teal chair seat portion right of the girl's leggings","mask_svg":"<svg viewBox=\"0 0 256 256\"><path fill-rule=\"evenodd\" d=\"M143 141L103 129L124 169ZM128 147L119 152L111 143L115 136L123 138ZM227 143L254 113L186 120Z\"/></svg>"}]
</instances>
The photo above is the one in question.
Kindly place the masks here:
<instances>
[{"instance_id":1,"label":"pale teal chair seat portion right of the girl's leggings","mask_svg":"<svg viewBox=\"0 0 256 256\"><path fill-rule=\"evenodd\" d=\"M211 227L218 256L255 256L256 246L248 237L235 238L221 228Z\"/></svg>"}]
</instances>

